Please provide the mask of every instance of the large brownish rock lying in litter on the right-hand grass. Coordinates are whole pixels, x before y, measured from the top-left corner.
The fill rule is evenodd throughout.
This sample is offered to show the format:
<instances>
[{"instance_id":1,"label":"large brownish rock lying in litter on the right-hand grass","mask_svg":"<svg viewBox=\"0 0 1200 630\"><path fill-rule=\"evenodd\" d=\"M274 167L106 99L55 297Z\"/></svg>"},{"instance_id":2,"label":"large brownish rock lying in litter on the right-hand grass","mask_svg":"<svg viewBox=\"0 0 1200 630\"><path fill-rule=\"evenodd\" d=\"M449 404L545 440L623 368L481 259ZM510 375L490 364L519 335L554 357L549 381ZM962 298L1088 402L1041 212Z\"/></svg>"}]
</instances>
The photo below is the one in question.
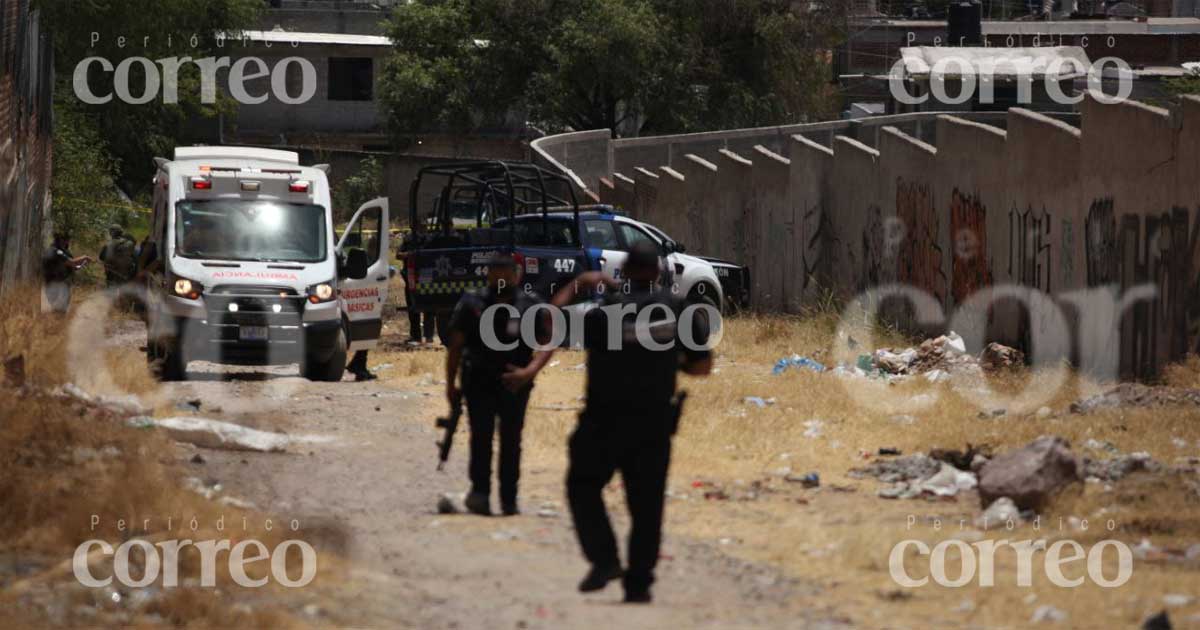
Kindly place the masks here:
<instances>
[{"instance_id":1,"label":"large brownish rock lying in litter on the right-hand grass","mask_svg":"<svg viewBox=\"0 0 1200 630\"><path fill-rule=\"evenodd\" d=\"M979 499L988 506L1008 497L1022 510L1040 510L1063 486L1080 479L1082 464L1070 452L1070 444L1043 436L989 461L979 470Z\"/></svg>"}]
</instances>

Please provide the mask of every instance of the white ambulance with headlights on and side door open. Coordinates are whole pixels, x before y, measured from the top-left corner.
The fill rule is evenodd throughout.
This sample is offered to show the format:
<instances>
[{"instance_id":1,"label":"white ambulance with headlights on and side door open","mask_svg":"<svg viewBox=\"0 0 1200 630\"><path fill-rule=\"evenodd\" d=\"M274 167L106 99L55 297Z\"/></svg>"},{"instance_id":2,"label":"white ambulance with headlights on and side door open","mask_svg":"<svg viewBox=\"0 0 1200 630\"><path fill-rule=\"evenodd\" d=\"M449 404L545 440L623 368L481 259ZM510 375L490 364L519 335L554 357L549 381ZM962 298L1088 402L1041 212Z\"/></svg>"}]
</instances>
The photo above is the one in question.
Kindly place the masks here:
<instances>
[{"instance_id":1,"label":"white ambulance with headlights on and side door open","mask_svg":"<svg viewBox=\"0 0 1200 630\"><path fill-rule=\"evenodd\" d=\"M146 354L164 380L193 360L300 364L341 380L373 348L388 300L388 200L367 202L335 240L328 166L295 152L175 149L156 158L154 221L138 259Z\"/></svg>"}]
</instances>

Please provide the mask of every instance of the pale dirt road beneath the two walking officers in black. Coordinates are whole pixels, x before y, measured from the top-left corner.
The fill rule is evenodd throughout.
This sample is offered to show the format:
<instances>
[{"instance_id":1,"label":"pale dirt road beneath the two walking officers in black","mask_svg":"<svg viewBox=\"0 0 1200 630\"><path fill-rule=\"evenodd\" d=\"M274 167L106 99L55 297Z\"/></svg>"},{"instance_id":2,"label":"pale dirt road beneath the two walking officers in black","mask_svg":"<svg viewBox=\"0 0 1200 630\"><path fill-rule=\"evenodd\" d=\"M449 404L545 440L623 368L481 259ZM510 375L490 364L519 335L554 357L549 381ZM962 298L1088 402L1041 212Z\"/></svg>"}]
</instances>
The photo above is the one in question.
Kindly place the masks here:
<instances>
[{"instance_id":1,"label":"pale dirt road beneath the two walking officers in black","mask_svg":"<svg viewBox=\"0 0 1200 630\"><path fill-rule=\"evenodd\" d=\"M346 582L331 587L332 600L308 607L318 624L839 625L811 608L820 599L811 586L670 530L652 606L619 604L616 583L583 596L575 586L587 566L563 504L564 470L526 467L521 516L437 515L440 493L466 487L467 449L461 432L448 472L434 472L432 418L444 406L434 384L406 391L383 379L316 384L294 374L294 368L271 368L222 379L202 368L193 373L200 380L167 385L163 394L173 404L200 401L199 410L188 413L335 438L287 454L196 451L204 463L192 462L196 452L179 454L209 485L220 482L224 494L281 521L299 520L301 536L349 560L349 571L337 578ZM608 490L610 509L624 530L619 488ZM323 584L330 587L328 580Z\"/></svg>"}]
</instances>

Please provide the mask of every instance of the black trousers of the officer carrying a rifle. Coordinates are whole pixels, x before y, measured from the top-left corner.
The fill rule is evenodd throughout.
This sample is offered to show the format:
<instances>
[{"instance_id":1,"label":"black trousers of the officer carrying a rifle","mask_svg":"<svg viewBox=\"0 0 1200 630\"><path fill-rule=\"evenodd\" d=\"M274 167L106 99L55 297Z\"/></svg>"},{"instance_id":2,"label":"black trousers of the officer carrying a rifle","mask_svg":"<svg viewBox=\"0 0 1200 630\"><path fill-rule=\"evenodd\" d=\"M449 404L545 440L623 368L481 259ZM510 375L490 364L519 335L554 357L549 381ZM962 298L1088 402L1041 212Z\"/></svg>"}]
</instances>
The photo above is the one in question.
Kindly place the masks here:
<instances>
[{"instance_id":1,"label":"black trousers of the officer carrying a rifle","mask_svg":"<svg viewBox=\"0 0 1200 630\"><path fill-rule=\"evenodd\" d=\"M470 491L491 496L492 442L496 419L500 425L500 503L515 505L517 480L521 478L521 430L524 428L529 391L514 394L497 382L467 389L467 414L470 418Z\"/></svg>"}]
</instances>

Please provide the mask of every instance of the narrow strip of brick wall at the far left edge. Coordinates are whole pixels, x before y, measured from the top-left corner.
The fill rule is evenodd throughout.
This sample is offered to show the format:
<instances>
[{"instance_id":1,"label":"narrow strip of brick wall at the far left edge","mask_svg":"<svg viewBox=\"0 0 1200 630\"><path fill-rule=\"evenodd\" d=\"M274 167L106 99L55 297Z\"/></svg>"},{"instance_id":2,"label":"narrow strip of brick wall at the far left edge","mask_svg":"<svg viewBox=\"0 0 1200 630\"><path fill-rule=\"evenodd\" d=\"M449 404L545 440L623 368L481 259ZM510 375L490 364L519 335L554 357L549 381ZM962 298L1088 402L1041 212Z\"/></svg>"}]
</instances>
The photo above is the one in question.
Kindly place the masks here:
<instances>
[{"instance_id":1,"label":"narrow strip of brick wall at the far left edge","mask_svg":"<svg viewBox=\"0 0 1200 630\"><path fill-rule=\"evenodd\" d=\"M29 0L0 0L0 292L38 277L49 226L54 64Z\"/></svg>"}]
</instances>

